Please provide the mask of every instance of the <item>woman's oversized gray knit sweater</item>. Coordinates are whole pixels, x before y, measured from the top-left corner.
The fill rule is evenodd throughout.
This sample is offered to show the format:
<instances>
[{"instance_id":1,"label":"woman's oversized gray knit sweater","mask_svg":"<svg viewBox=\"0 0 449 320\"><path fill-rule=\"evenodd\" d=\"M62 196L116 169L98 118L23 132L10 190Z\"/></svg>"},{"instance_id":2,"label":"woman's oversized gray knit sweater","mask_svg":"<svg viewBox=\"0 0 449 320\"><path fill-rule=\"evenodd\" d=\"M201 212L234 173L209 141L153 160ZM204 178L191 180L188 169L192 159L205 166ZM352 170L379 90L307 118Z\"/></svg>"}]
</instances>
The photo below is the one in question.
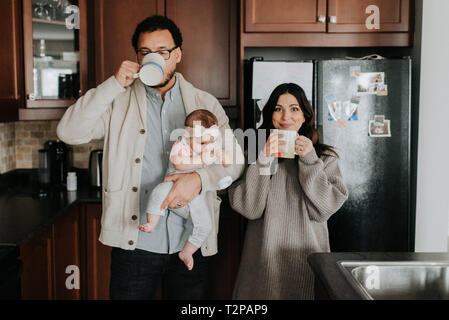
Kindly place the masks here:
<instances>
[{"instance_id":1,"label":"woman's oversized gray knit sweater","mask_svg":"<svg viewBox=\"0 0 449 320\"><path fill-rule=\"evenodd\" d=\"M250 220L233 299L313 299L307 256L330 250L327 220L348 198L335 156L273 159L262 152L229 189Z\"/></svg>"}]
</instances>

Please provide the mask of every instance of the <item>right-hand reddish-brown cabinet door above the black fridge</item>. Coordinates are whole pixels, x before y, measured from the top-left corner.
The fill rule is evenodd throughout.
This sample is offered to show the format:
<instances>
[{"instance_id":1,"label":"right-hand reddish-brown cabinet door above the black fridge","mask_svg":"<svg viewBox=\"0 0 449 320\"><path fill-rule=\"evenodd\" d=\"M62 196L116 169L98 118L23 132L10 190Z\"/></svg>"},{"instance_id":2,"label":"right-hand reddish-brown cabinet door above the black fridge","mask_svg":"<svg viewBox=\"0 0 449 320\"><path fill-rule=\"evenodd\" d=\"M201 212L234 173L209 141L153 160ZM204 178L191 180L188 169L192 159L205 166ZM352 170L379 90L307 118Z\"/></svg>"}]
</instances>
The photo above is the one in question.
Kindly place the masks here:
<instances>
[{"instance_id":1,"label":"right-hand reddish-brown cabinet door above the black fridge","mask_svg":"<svg viewBox=\"0 0 449 320\"><path fill-rule=\"evenodd\" d=\"M368 29L370 5L379 8L379 29ZM329 32L408 32L410 0L329 0Z\"/></svg>"}]
</instances>

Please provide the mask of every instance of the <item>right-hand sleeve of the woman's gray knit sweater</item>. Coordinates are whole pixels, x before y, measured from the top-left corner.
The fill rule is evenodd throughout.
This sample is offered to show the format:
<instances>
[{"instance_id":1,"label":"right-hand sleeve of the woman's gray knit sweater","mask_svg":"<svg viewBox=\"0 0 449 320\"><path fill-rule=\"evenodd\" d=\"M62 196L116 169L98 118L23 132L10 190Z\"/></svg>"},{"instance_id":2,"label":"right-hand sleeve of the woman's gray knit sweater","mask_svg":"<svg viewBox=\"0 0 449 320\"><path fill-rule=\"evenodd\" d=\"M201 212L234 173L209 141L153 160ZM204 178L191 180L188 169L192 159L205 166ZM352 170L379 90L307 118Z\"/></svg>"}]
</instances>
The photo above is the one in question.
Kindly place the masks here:
<instances>
[{"instance_id":1,"label":"right-hand sleeve of the woman's gray knit sweater","mask_svg":"<svg viewBox=\"0 0 449 320\"><path fill-rule=\"evenodd\" d=\"M313 150L305 157L299 157L298 172L309 218L327 221L348 198L337 157L328 155L320 159Z\"/></svg>"}]
</instances>

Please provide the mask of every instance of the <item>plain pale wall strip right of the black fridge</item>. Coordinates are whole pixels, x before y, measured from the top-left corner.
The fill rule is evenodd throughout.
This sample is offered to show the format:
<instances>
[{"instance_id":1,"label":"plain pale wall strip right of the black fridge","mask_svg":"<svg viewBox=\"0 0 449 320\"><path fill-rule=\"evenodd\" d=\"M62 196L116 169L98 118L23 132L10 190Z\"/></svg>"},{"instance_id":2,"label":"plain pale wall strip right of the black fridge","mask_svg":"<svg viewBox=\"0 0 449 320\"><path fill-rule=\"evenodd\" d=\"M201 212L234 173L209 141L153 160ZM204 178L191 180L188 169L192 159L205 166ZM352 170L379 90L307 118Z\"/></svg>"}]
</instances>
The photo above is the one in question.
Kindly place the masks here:
<instances>
[{"instance_id":1,"label":"plain pale wall strip right of the black fridge","mask_svg":"<svg viewBox=\"0 0 449 320\"><path fill-rule=\"evenodd\" d=\"M416 251L447 251L449 227L449 1L422 6Z\"/></svg>"}]
</instances>

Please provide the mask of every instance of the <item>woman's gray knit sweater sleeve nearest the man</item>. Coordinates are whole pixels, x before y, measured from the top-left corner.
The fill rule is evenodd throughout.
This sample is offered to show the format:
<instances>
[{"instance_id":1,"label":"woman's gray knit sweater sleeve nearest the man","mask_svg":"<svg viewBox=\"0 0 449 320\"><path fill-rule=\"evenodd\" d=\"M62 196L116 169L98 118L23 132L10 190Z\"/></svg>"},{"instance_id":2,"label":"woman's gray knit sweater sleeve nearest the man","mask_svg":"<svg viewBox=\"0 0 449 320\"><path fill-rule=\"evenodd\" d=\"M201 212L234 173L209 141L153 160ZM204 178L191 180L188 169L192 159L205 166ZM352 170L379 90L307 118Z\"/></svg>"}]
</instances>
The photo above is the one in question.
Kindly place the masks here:
<instances>
[{"instance_id":1,"label":"woman's gray knit sweater sleeve nearest the man","mask_svg":"<svg viewBox=\"0 0 449 320\"><path fill-rule=\"evenodd\" d=\"M249 220L259 219L264 213L271 179L270 167L274 160L261 152L242 179L228 190L231 207Z\"/></svg>"}]
</instances>

